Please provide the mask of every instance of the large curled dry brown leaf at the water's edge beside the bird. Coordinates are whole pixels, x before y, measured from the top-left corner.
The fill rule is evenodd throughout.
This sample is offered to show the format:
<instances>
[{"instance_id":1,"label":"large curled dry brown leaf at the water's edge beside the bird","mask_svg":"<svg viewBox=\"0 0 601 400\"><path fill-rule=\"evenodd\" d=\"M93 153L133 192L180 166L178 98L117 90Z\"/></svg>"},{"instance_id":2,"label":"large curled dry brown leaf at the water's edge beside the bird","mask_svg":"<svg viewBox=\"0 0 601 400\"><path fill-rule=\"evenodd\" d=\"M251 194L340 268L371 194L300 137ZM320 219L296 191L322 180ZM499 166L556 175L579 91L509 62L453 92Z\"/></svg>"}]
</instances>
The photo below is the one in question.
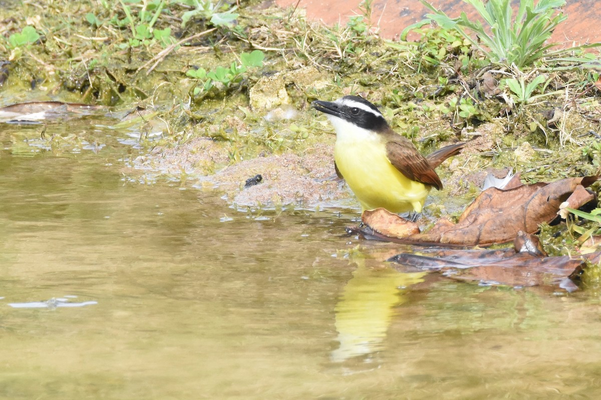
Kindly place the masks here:
<instances>
[{"instance_id":1,"label":"large curled dry brown leaf at the water's edge beside the bird","mask_svg":"<svg viewBox=\"0 0 601 400\"><path fill-rule=\"evenodd\" d=\"M513 187L511 189L489 188L483 191L465 209L456 224L441 218L427 233L407 236L401 229L400 236L388 236L384 232L392 232L394 227L388 223L385 228L378 225L381 219L388 218L381 215L388 212L376 209L369 215L364 214L362 221L367 227L361 231L366 237L409 244L489 246L507 243L514 240L519 231L534 233L538 225L551 222L564 201L568 201L572 208L590 201L590 194L584 187L596 180L597 176L587 176L565 178L551 184L540 182L513 187L515 180L512 179L508 184L508 187Z\"/></svg>"}]
</instances>

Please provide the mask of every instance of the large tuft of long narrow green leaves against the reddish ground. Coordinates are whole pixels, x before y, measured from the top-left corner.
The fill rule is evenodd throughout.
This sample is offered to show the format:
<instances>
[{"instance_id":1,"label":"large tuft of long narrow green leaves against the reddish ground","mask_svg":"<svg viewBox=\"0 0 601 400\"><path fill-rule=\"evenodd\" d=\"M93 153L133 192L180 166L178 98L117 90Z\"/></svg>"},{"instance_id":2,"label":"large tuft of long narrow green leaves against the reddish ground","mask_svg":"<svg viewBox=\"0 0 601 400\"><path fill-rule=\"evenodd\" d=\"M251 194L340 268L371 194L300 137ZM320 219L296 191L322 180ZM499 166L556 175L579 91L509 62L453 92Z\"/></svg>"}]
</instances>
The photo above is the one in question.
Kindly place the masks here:
<instances>
[{"instance_id":1,"label":"large tuft of long narrow green leaves against the reddish ground","mask_svg":"<svg viewBox=\"0 0 601 400\"><path fill-rule=\"evenodd\" d=\"M566 4L565 0L539 0L537 4L534 0L522 0L515 17L510 0L463 1L478 11L486 27L480 21L469 20L465 13L451 18L426 0L419 0L432 13L427 14L428 20L407 29L418 28L433 20L443 29L459 32L490 61L508 66L515 64L520 68L542 58L546 50L554 46L545 43L557 25L567 18L563 13L557 13L557 8ZM475 33L475 38L471 32Z\"/></svg>"}]
</instances>

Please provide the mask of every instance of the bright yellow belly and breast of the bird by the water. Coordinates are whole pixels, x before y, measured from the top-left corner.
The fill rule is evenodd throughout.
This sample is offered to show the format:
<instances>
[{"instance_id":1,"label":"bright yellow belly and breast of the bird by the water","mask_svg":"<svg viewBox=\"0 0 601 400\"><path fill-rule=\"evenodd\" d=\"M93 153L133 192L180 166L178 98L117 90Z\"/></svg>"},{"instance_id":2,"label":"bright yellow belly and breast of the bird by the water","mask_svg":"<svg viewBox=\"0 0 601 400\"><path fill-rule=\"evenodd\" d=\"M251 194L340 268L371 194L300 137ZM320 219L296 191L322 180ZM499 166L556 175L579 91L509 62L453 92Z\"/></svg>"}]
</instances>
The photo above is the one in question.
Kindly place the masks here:
<instances>
[{"instance_id":1,"label":"bright yellow belly and breast of the bird by the water","mask_svg":"<svg viewBox=\"0 0 601 400\"><path fill-rule=\"evenodd\" d=\"M383 207L395 213L421 212L430 186L411 181L392 166L383 143L337 142L334 159L364 210Z\"/></svg>"}]
</instances>

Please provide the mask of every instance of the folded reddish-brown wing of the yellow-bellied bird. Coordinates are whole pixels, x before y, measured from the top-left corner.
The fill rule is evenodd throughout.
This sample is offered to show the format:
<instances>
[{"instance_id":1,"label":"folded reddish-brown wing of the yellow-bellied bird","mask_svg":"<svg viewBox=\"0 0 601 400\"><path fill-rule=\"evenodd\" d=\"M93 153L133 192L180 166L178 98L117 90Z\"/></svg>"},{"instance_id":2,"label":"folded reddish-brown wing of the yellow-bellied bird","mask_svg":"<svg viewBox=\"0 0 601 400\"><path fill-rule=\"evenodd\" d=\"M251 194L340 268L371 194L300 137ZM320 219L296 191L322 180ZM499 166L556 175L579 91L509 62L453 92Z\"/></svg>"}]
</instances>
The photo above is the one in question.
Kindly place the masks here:
<instances>
[{"instance_id":1,"label":"folded reddish-brown wing of the yellow-bellied bird","mask_svg":"<svg viewBox=\"0 0 601 400\"><path fill-rule=\"evenodd\" d=\"M428 160L419 154L409 139L398 136L386 142L386 157L397 170L412 181L442 189L441 178L438 178Z\"/></svg>"}]
</instances>

